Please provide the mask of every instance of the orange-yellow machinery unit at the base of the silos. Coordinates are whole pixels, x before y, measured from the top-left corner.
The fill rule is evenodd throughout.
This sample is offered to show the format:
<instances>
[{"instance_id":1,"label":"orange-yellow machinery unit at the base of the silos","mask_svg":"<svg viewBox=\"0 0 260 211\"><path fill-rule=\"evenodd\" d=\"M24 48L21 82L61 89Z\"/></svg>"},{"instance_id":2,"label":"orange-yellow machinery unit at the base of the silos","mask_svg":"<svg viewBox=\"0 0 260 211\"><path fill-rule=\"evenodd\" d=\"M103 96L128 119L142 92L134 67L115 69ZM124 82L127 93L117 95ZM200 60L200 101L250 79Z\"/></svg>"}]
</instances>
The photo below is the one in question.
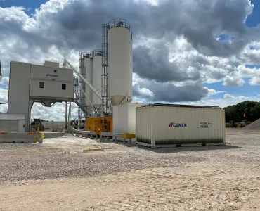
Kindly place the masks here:
<instances>
[{"instance_id":1,"label":"orange-yellow machinery unit at the base of the silos","mask_svg":"<svg viewBox=\"0 0 260 211\"><path fill-rule=\"evenodd\" d=\"M86 131L94 131L100 135L101 132L113 132L112 117L88 118L85 122Z\"/></svg>"}]
</instances>

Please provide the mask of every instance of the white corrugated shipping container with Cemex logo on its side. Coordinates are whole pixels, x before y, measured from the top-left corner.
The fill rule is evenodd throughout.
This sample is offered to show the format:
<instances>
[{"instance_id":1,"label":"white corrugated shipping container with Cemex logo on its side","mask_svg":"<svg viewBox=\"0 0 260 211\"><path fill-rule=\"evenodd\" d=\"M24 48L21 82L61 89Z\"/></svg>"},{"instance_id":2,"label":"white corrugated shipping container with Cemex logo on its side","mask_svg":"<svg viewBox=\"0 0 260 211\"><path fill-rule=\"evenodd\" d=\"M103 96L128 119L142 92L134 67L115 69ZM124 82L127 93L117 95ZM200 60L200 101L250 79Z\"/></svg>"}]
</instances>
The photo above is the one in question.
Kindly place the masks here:
<instances>
[{"instance_id":1,"label":"white corrugated shipping container with Cemex logo on its side","mask_svg":"<svg viewBox=\"0 0 260 211\"><path fill-rule=\"evenodd\" d=\"M136 108L136 141L143 146L224 145L225 111L209 106L155 104Z\"/></svg>"}]
</instances>

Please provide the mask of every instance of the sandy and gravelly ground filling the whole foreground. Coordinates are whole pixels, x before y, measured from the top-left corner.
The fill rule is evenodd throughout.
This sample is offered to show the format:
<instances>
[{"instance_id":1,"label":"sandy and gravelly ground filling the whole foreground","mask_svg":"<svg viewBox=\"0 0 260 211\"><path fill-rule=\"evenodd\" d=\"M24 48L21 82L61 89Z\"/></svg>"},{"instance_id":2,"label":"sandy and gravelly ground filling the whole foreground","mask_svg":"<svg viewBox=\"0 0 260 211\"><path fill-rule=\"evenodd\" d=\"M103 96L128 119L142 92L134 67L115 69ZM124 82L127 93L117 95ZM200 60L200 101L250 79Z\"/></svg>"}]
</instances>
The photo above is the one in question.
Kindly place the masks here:
<instances>
[{"instance_id":1,"label":"sandy and gravelly ground filling the whole foreground","mask_svg":"<svg viewBox=\"0 0 260 211\"><path fill-rule=\"evenodd\" d=\"M21 151L0 146L0 210L260 210L259 137L260 132L228 129L228 146L74 155L43 146L31 151L30 167L29 158L5 161ZM47 165L49 156L61 159L61 166ZM47 160L48 172L37 170L34 159ZM85 163L72 169L77 162ZM8 176L22 167L27 179ZM70 167L70 174L61 167ZM36 174L41 175L32 180Z\"/></svg>"}]
</instances>

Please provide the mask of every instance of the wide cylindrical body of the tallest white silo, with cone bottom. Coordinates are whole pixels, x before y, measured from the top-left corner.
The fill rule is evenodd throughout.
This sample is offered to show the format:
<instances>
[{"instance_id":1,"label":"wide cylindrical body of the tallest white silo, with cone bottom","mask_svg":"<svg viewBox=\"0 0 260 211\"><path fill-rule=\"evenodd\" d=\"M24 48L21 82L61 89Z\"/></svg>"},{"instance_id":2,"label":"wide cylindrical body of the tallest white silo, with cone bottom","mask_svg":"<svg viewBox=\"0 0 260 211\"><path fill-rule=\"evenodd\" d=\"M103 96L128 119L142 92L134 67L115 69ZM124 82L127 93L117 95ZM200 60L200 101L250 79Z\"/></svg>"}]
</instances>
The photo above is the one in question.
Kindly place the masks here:
<instances>
[{"instance_id":1,"label":"wide cylindrical body of the tallest white silo, with cone bottom","mask_svg":"<svg viewBox=\"0 0 260 211\"><path fill-rule=\"evenodd\" d=\"M113 105L131 98L131 32L124 27L108 30L108 94Z\"/></svg>"}]
</instances>

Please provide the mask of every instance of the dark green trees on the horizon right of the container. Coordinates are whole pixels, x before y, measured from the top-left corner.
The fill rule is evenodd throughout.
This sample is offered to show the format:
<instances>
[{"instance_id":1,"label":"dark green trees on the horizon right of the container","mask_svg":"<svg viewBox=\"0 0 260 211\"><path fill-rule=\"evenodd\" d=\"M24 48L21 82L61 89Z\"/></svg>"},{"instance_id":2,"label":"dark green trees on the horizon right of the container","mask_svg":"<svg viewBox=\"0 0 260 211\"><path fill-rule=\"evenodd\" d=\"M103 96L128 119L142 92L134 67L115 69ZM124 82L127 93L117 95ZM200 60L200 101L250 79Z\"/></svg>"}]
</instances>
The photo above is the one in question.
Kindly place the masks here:
<instances>
[{"instance_id":1,"label":"dark green trees on the horizon right of the container","mask_svg":"<svg viewBox=\"0 0 260 211\"><path fill-rule=\"evenodd\" d=\"M260 118L260 102L244 101L233 106L225 107L226 122L247 120L254 122ZM245 117L244 117L245 114Z\"/></svg>"}]
</instances>

